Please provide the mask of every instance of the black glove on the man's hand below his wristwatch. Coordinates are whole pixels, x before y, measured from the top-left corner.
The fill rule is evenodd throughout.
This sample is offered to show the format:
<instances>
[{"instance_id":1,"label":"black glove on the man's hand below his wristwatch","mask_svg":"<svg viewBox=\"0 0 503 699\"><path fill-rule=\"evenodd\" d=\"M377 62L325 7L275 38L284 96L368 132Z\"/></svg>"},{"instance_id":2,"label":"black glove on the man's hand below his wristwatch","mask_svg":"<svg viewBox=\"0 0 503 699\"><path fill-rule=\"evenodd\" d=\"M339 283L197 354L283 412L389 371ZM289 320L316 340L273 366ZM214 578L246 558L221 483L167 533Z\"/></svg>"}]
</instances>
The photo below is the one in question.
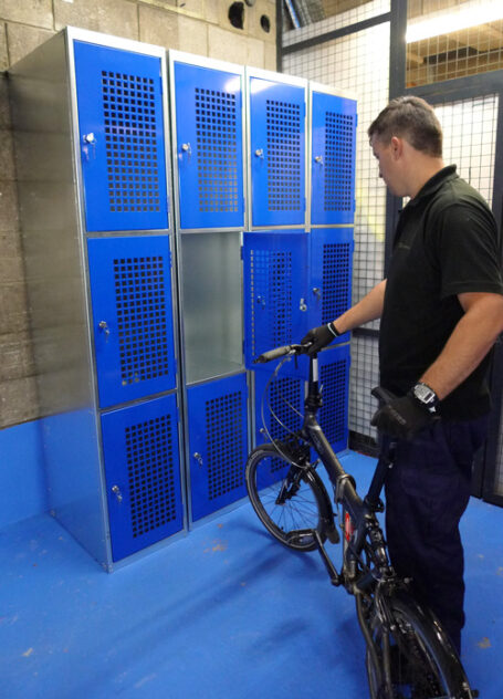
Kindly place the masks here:
<instances>
[{"instance_id":1,"label":"black glove on the man's hand below his wristwatch","mask_svg":"<svg viewBox=\"0 0 503 699\"><path fill-rule=\"evenodd\" d=\"M407 394L402 398L394 398L376 410L370 424L390 437L412 439L433 419L434 415L427 407L413 395Z\"/></svg>"}]
</instances>

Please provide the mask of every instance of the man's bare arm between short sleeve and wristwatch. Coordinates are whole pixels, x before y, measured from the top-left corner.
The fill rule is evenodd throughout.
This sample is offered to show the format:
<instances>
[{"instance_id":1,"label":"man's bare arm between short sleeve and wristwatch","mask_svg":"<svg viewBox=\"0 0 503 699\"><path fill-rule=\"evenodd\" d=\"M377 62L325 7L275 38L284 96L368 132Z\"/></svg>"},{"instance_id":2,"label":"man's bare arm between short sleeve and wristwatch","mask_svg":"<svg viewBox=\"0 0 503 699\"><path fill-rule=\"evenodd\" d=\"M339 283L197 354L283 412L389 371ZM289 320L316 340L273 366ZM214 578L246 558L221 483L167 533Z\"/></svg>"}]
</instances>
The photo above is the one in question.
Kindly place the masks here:
<instances>
[{"instance_id":1,"label":"man's bare arm between short sleeve and wristwatch","mask_svg":"<svg viewBox=\"0 0 503 699\"><path fill-rule=\"evenodd\" d=\"M458 295L464 311L439 357L420 377L446 398L479 366L503 332L503 296L494 293Z\"/></svg>"}]
</instances>

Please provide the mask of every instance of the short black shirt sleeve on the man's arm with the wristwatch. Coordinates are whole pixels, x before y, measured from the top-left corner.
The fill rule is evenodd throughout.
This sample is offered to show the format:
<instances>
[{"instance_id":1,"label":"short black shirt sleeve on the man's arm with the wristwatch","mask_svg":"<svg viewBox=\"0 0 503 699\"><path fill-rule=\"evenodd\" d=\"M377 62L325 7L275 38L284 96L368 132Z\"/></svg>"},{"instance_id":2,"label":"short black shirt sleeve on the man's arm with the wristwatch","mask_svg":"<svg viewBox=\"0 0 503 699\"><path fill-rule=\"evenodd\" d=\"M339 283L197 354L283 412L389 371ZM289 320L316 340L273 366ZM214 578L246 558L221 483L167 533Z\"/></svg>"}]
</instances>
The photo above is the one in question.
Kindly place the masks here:
<instances>
[{"instance_id":1,"label":"short black shirt sleeve on the man's arm with the wristwatch","mask_svg":"<svg viewBox=\"0 0 503 699\"><path fill-rule=\"evenodd\" d=\"M503 294L497 229L490 211L458 204L439 218L436 252L441 298L465 292Z\"/></svg>"}]
</instances>

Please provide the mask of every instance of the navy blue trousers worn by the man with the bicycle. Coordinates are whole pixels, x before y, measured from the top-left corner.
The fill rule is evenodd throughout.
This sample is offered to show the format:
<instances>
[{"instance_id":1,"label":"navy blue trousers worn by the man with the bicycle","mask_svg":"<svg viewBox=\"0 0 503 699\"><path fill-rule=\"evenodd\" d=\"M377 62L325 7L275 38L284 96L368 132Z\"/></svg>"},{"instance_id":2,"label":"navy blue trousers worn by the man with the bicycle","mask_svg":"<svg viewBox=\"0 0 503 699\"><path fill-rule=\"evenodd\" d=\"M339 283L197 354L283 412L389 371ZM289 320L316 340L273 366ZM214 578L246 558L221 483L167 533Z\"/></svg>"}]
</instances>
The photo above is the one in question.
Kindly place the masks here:
<instances>
[{"instance_id":1,"label":"navy blue trousers worn by the man with the bicycle","mask_svg":"<svg viewBox=\"0 0 503 699\"><path fill-rule=\"evenodd\" d=\"M386 492L391 564L412 578L419 602L440 619L458 651L464 626L464 556L459 521L470 499L473 458L488 417L440 420L411 441L399 441Z\"/></svg>"}]
</instances>

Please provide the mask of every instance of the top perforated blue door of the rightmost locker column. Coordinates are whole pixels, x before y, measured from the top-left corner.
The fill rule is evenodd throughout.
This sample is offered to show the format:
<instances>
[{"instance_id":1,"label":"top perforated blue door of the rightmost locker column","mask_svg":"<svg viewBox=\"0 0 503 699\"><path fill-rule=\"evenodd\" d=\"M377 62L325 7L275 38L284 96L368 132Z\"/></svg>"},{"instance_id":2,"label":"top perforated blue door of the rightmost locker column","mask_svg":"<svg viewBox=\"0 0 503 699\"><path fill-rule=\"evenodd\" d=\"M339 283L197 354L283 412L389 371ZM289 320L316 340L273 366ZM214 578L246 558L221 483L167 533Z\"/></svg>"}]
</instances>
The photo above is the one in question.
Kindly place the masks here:
<instances>
[{"instance_id":1,"label":"top perforated blue door of the rightmost locker column","mask_svg":"<svg viewBox=\"0 0 503 699\"><path fill-rule=\"evenodd\" d=\"M313 92L311 222L352 223L355 215L356 102Z\"/></svg>"}]
</instances>

